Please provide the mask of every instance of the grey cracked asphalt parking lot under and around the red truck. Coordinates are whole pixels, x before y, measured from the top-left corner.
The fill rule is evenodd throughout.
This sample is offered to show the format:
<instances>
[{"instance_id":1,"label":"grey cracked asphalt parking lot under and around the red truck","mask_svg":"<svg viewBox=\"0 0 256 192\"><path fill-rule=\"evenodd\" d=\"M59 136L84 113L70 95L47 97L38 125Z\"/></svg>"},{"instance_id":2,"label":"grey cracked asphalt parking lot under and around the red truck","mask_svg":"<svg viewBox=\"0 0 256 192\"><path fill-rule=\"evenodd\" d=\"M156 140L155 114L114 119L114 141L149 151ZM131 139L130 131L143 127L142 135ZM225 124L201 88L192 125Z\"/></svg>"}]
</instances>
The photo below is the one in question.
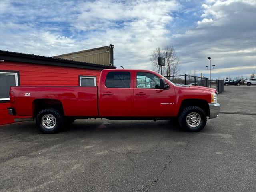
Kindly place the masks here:
<instances>
[{"instance_id":1,"label":"grey cracked asphalt parking lot under and around the red truck","mask_svg":"<svg viewBox=\"0 0 256 192\"><path fill-rule=\"evenodd\" d=\"M0 126L0 191L255 191L256 86L225 86L219 102L198 133L169 120Z\"/></svg>"}]
</instances>

